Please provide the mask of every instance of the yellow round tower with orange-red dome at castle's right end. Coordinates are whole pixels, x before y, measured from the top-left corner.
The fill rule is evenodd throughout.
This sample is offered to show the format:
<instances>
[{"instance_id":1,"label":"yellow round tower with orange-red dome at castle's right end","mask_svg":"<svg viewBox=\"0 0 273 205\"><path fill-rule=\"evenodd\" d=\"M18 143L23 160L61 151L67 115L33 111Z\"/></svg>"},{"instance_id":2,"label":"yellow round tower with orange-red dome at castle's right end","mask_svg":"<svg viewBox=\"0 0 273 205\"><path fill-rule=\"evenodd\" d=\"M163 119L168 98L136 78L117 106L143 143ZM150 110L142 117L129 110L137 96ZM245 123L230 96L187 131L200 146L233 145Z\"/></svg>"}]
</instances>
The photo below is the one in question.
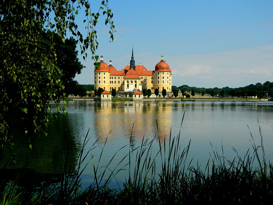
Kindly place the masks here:
<instances>
[{"instance_id":1,"label":"yellow round tower with orange-red dome at castle's right end","mask_svg":"<svg viewBox=\"0 0 273 205\"><path fill-rule=\"evenodd\" d=\"M172 71L166 61L163 60L164 56L161 55L161 61L155 65L153 73L154 89L158 88L159 92L166 89L167 92L172 90Z\"/></svg>"}]
</instances>

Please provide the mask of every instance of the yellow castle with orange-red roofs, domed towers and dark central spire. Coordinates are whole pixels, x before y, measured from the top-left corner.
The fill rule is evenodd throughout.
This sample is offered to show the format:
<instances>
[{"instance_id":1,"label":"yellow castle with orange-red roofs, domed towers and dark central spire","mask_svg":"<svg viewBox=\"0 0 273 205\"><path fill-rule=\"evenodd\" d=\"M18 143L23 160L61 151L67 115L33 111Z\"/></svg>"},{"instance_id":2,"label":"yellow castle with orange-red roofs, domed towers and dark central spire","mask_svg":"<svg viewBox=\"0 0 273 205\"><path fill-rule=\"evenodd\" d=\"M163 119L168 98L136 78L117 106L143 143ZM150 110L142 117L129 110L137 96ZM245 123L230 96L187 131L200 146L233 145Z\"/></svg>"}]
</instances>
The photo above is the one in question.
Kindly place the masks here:
<instances>
[{"instance_id":1,"label":"yellow castle with orange-red roofs, domed towers and dark central spire","mask_svg":"<svg viewBox=\"0 0 273 205\"><path fill-rule=\"evenodd\" d=\"M135 65L134 50L132 48L132 57L130 64L122 70L116 70L109 61L109 65L103 62L103 56L100 57L100 67L94 71L94 86L95 89L103 88L107 91L124 91L135 92L143 89L151 89L155 91L158 88L159 92L166 89L171 92L172 87L172 72L169 65L163 60L155 65L154 70L148 70L143 65Z\"/></svg>"}]
</instances>

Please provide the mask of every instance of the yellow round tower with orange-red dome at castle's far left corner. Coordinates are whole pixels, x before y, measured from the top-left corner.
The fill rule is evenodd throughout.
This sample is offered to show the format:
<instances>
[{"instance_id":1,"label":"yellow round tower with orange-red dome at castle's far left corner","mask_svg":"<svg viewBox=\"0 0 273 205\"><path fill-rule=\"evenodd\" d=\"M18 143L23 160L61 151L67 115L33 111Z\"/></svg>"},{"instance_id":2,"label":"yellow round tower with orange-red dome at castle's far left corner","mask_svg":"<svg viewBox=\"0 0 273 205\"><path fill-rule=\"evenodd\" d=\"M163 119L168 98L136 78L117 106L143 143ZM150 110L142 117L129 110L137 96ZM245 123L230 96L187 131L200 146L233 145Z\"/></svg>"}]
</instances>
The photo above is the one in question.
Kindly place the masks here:
<instances>
[{"instance_id":1,"label":"yellow round tower with orange-red dome at castle's far left corner","mask_svg":"<svg viewBox=\"0 0 273 205\"><path fill-rule=\"evenodd\" d=\"M103 88L109 91L110 71L106 63L103 62L103 56L100 56L100 67L94 71L95 89Z\"/></svg>"}]
</instances>

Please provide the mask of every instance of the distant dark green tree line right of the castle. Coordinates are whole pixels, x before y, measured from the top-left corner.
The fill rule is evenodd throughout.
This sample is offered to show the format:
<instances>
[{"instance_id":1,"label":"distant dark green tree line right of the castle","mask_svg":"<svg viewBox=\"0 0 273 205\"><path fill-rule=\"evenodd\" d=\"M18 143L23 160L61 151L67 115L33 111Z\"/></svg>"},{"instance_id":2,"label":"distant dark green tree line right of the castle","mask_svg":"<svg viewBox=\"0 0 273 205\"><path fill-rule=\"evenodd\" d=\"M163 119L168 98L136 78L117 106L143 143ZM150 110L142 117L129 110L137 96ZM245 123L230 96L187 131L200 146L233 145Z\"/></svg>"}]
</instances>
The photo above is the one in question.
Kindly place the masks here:
<instances>
[{"instance_id":1,"label":"distant dark green tree line right of the castle","mask_svg":"<svg viewBox=\"0 0 273 205\"><path fill-rule=\"evenodd\" d=\"M204 94L208 94L211 96L230 96L230 97L254 97L257 96L258 98L266 98L266 97L273 97L273 82L266 81L264 84L262 83L256 83L250 84L245 87L239 87L239 88L229 88L229 87L223 87L223 88L197 88L197 87L190 87L187 85L183 86L172 86L172 91L176 93L176 90L179 90L182 93L183 96L186 96L186 92L191 93L192 96L195 95L195 93L201 93L202 96Z\"/></svg>"}]
</instances>

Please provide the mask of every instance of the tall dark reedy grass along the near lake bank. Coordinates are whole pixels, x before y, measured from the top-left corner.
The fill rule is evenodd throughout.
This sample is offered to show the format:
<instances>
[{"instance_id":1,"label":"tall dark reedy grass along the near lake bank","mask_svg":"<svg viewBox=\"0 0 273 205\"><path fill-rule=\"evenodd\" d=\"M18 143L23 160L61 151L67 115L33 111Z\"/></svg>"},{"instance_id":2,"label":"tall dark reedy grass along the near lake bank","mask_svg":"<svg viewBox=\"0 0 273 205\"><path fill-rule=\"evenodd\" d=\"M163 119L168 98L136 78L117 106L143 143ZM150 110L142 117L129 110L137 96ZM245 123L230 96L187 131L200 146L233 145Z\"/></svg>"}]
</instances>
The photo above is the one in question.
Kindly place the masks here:
<instances>
[{"instance_id":1,"label":"tall dark reedy grass along the near lake bank","mask_svg":"<svg viewBox=\"0 0 273 205\"><path fill-rule=\"evenodd\" d=\"M259 146L250 132L252 149L243 157L233 148L236 157L227 159L222 147L222 153L213 150L204 170L188 159L191 141L182 147L181 133L172 137L170 131L168 142L159 140L158 144L158 136L150 141L143 136L135 149L130 146L131 136L129 146L117 150L105 165L100 160L107 140L95 162L92 154L91 159L87 157L96 142L84 152L86 135L78 164L64 166L70 168L64 169L61 181L43 181L28 190L16 182L2 184L0 204L265 204L273 199L273 165L266 161L260 126L259 130ZM118 152L127 148L128 154L112 165ZM158 151L154 154L153 149ZM94 181L84 189L80 179L86 160L92 163ZM127 176L123 184L116 181L119 173ZM112 188L110 183L115 181L117 186Z\"/></svg>"}]
</instances>

